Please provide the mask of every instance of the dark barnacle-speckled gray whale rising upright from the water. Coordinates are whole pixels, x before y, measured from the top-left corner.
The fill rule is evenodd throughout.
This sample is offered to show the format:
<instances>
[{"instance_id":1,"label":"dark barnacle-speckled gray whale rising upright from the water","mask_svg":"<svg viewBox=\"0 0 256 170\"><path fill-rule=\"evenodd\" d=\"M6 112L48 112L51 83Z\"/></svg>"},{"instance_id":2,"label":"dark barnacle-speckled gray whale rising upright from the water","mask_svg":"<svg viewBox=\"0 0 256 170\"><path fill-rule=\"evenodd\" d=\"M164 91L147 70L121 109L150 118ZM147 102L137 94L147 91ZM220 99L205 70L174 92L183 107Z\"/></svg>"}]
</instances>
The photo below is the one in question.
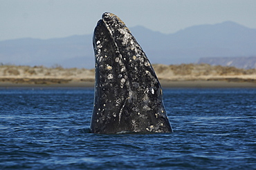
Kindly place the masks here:
<instances>
[{"instance_id":1,"label":"dark barnacle-speckled gray whale rising upright from the water","mask_svg":"<svg viewBox=\"0 0 256 170\"><path fill-rule=\"evenodd\" d=\"M91 133L172 132L161 85L147 56L116 15L93 34L95 94Z\"/></svg>"}]
</instances>

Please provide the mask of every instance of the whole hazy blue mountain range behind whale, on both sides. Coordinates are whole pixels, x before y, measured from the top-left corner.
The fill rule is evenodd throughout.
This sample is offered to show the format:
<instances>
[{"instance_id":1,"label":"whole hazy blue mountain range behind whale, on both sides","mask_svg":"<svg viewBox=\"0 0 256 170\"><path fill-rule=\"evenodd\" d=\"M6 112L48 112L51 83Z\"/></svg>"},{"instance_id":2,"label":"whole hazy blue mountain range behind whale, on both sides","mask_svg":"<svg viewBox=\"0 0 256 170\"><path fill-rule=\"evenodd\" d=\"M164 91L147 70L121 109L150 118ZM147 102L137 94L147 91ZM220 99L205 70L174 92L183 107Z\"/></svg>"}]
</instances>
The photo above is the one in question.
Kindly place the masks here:
<instances>
[{"instance_id":1,"label":"whole hazy blue mountain range behind whale, on both sides","mask_svg":"<svg viewBox=\"0 0 256 170\"><path fill-rule=\"evenodd\" d=\"M195 25L174 34L131 28L151 63L195 63L205 57L256 56L256 29L226 21ZM94 67L92 34L60 39L0 41L0 63Z\"/></svg>"}]
</instances>

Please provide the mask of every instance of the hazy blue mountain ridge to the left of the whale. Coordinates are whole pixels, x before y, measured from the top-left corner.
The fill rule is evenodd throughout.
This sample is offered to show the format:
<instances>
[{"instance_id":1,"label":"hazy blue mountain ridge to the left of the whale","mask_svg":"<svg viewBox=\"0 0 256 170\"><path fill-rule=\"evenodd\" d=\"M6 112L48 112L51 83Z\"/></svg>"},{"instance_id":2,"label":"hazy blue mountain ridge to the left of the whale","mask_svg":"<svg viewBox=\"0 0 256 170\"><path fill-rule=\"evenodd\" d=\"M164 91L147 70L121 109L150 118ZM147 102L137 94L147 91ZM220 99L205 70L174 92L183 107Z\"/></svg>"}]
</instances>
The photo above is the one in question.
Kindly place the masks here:
<instances>
[{"instance_id":1,"label":"hazy blue mountain ridge to the left of the whale","mask_svg":"<svg viewBox=\"0 0 256 170\"><path fill-rule=\"evenodd\" d=\"M0 63L92 68L94 54L91 41L91 35L0 41Z\"/></svg>"}]
</instances>

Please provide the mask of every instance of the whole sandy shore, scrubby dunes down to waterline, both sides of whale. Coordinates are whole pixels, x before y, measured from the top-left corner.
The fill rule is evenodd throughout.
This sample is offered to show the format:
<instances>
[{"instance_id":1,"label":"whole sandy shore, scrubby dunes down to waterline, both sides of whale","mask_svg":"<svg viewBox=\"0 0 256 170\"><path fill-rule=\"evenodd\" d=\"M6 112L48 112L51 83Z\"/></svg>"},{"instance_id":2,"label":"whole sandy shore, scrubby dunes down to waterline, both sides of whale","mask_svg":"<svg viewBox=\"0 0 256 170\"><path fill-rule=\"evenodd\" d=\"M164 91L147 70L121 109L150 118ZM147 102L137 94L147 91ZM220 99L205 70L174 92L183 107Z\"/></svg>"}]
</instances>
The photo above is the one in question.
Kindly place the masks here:
<instances>
[{"instance_id":1,"label":"whole sandy shore, scrubby dunes down to waterline, both sides of whale","mask_svg":"<svg viewBox=\"0 0 256 170\"><path fill-rule=\"evenodd\" d=\"M208 64L152 65L162 87L256 87L256 69ZM95 70L0 65L0 87L93 87Z\"/></svg>"}]
</instances>

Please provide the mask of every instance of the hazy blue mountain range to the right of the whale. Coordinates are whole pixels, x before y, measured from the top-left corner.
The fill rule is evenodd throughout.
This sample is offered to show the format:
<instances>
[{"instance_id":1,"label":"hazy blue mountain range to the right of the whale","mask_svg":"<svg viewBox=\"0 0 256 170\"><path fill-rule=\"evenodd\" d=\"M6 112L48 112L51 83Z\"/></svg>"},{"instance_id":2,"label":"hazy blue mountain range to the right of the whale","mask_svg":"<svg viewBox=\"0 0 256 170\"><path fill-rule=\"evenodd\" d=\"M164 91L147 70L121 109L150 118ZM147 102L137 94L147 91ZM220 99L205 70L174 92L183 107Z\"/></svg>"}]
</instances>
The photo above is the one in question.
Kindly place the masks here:
<instances>
[{"instance_id":1,"label":"hazy blue mountain range to the right of the whale","mask_svg":"<svg viewBox=\"0 0 256 170\"><path fill-rule=\"evenodd\" d=\"M215 25L196 25L174 34L136 35L152 63L194 63L202 57L255 56L256 29L226 21ZM143 45L145 43L145 45ZM149 58L150 59L150 58Z\"/></svg>"}]
</instances>

